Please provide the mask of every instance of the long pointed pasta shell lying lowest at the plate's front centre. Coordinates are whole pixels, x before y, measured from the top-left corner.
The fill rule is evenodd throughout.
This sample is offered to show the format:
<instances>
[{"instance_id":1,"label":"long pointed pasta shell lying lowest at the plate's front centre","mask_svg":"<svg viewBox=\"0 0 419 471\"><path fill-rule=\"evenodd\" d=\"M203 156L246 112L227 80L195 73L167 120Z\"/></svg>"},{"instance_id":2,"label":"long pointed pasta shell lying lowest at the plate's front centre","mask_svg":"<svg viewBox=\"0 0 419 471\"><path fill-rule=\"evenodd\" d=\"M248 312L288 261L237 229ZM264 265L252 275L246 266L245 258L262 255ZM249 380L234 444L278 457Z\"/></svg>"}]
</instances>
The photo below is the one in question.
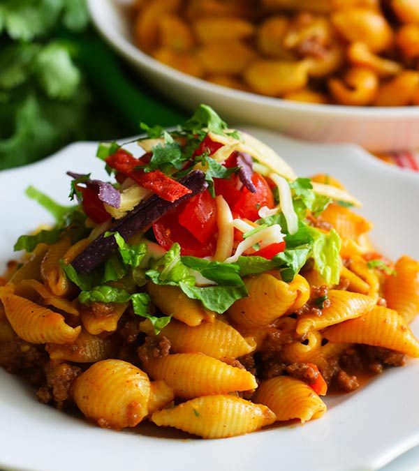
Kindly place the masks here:
<instances>
[{"instance_id":1,"label":"long pointed pasta shell lying lowest at the plate's front centre","mask_svg":"<svg viewBox=\"0 0 419 471\"><path fill-rule=\"evenodd\" d=\"M254 432L275 420L267 407L235 396L204 396L154 412L158 426L180 428L203 438L227 438Z\"/></svg>"}]
</instances>

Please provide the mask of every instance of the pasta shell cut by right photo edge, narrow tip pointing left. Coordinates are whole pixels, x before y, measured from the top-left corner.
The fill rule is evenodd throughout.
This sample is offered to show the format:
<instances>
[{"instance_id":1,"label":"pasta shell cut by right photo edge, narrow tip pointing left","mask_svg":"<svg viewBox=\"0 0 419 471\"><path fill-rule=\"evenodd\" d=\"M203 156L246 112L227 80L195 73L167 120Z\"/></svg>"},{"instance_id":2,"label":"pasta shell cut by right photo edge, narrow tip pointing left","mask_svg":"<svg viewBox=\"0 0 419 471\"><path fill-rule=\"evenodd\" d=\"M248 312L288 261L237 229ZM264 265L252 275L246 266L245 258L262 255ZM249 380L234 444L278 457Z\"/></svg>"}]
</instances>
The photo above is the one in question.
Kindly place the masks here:
<instances>
[{"instance_id":1,"label":"pasta shell cut by right photo edge, narrow tip pointing left","mask_svg":"<svg viewBox=\"0 0 419 471\"><path fill-rule=\"evenodd\" d=\"M381 306L358 319L329 327L322 334L332 342L365 343L419 357L419 341L404 318Z\"/></svg>"}]
</instances>

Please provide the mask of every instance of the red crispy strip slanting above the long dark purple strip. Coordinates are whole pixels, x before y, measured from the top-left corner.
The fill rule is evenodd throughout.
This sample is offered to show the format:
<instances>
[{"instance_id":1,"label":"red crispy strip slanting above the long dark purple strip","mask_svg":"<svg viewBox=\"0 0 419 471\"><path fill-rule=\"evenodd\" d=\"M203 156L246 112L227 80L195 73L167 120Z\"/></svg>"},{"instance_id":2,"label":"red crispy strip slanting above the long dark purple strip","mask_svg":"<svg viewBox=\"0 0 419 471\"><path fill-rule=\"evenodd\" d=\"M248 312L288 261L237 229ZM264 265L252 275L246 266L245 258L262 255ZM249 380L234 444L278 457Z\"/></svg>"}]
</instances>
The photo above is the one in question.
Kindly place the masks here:
<instances>
[{"instance_id":1,"label":"red crispy strip slanting above the long dark purple strip","mask_svg":"<svg viewBox=\"0 0 419 471\"><path fill-rule=\"evenodd\" d=\"M106 158L106 163L118 172L126 175L126 177L133 179L140 186L151 190L157 196L163 198L163 200L174 202L180 197L191 193L189 188L179 184L178 181L163 174L160 170L153 170L147 173L141 169L135 170L136 167L142 164L142 161L124 149L119 149L115 154Z\"/></svg>"}]
</instances>

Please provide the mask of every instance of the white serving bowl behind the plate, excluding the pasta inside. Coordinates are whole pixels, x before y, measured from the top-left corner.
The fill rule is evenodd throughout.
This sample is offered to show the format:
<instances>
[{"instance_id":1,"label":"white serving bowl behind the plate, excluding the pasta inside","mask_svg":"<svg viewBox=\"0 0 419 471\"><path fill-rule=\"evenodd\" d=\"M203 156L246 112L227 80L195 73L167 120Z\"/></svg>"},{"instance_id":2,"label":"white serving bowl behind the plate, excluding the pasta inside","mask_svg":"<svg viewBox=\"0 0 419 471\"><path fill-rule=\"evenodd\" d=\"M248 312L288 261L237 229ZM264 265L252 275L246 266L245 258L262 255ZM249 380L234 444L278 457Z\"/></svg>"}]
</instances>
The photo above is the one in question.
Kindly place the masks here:
<instances>
[{"instance_id":1,"label":"white serving bowl behind the plate, excluding the pasta inside","mask_svg":"<svg viewBox=\"0 0 419 471\"><path fill-rule=\"evenodd\" d=\"M314 142L351 142L370 151L419 147L419 106L314 105L229 89L170 68L133 44L121 3L88 0L105 40L147 82L186 110L207 103L230 124L253 124Z\"/></svg>"}]
</instances>

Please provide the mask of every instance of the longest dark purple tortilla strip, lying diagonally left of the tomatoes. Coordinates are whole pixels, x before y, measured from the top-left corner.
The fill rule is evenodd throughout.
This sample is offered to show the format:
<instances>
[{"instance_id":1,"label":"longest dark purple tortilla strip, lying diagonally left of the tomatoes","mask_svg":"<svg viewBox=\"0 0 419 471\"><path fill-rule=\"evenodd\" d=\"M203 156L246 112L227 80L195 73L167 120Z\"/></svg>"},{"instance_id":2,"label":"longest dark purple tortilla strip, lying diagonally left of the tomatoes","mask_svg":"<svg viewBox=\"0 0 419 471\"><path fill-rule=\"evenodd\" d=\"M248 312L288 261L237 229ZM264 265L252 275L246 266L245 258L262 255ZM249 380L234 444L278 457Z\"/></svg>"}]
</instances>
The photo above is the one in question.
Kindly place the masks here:
<instances>
[{"instance_id":1,"label":"longest dark purple tortilla strip, lying diagonally left of the tomatoes","mask_svg":"<svg viewBox=\"0 0 419 471\"><path fill-rule=\"evenodd\" d=\"M208 186L205 181L205 174L200 170L193 170L186 177L179 179L179 183L189 188L192 193L184 195L172 203L157 195L152 195L148 200L140 202L132 211L129 211L124 218L115 221L108 231L119 232L124 240L127 240L161 218L170 209L179 206L184 200L202 193ZM104 237L101 234L82 253L75 257L71 264L79 273L89 274L104 262L115 248L117 248L115 237Z\"/></svg>"}]
</instances>

